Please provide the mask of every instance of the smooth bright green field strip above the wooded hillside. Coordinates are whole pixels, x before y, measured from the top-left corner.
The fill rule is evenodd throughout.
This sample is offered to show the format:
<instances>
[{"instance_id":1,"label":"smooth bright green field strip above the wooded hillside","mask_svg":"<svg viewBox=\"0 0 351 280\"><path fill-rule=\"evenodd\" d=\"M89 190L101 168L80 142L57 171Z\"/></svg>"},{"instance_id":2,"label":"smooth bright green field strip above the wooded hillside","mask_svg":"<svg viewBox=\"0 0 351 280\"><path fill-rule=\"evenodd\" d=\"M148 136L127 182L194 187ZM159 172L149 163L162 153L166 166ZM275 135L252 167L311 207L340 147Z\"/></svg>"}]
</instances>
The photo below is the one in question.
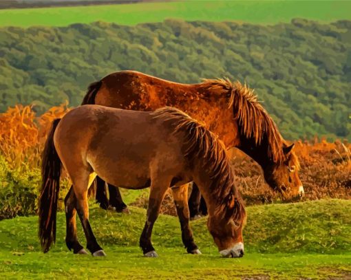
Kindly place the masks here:
<instances>
[{"instance_id":1,"label":"smooth bright green field strip above the wooded hillside","mask_svg":"<svg viewBox=\"0 0 351 280\"><path fill-rule=\"evenodd\" d=\"M0 26L47 25L107 21L122 25L186 21L289 22L301 17L319 21L351 19L351 1L174 1L109 6L0 10Z\"/></svg>"}]
</instances>

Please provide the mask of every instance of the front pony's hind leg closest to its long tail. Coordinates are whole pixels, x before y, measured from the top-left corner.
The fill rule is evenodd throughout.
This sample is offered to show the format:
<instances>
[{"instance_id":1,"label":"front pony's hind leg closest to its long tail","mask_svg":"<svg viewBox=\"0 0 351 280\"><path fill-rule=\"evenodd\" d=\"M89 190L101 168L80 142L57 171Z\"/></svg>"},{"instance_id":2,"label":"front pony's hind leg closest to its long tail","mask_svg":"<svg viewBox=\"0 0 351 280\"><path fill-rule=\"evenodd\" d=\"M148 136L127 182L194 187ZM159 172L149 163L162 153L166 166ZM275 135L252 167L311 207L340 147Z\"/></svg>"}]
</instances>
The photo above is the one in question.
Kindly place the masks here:
<instances>
[{"instance_id":1,"label":"front pony's hind leg closest to its long tail","mask_svg":"<svg viewBox=\"0 0 351 280\"><path fill-rule=\"evenodd\" d=\"M76 195L74 195L73 186L65 197L65 214L66 214L66 245L74 254L87 254L77 238L76 228Z\"/></svg>"}]
</instances>

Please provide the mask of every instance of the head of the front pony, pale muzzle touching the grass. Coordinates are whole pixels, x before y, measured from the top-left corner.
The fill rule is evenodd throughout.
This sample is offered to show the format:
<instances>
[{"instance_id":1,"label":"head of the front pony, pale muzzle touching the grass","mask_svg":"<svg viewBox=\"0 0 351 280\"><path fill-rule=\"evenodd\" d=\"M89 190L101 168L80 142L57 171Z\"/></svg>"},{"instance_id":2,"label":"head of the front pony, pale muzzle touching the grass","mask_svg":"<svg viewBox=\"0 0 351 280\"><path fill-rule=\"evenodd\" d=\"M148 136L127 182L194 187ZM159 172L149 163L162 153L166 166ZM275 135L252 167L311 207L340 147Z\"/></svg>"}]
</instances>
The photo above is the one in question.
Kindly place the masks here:
<instances>
[{"instance_id":1,"label":"head of the front pony, pale muzzle touching the grass","mask_svg":"<svg viewBox=\"0 0 351 280\"><path fill-rule=\"evenodd\" d=\"M223 257L244 256L242 230L246 222L244 206L233 193L228 195L226 204L209 215L207 227Z\"/></svg>"}]
</instances>

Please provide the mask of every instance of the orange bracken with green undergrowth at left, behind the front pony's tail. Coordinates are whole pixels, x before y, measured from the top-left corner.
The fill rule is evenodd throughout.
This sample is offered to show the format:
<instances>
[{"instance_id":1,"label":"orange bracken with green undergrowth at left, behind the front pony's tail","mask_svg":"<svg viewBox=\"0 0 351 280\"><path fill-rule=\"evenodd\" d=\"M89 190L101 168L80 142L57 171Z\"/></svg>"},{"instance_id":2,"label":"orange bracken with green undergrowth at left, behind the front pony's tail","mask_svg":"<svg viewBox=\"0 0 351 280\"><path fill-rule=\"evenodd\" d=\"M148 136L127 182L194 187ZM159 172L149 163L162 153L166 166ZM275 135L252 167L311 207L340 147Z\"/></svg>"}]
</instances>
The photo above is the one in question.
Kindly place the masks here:
<instances>
[{"instance_id":1,"label":"orange bracken with green undergrowth at left, behind the front pony's tail","mask_svg":"<svg viewBox=\"0 0 351 280\"><path fill-rule=\"evenodd\" d=\"M52 120L67 111L61 105L36 117L32 107L17 105L0 114L0 220L36 213L43 144ZM68 186L66 175L59 208Z\"/></svg>"}]
</instances>

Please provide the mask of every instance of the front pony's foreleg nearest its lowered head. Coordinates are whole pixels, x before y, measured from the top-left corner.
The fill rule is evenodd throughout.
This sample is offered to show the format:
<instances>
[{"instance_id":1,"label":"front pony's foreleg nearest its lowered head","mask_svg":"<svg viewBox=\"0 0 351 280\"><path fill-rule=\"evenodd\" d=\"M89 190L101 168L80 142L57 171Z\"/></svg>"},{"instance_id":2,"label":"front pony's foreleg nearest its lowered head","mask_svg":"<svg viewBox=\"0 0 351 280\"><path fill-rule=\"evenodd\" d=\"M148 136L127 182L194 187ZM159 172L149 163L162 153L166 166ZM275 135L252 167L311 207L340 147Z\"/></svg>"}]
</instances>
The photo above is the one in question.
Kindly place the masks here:
<instances>
[{"instance_id":1,"label":"front pony's foreleg nearest its lowered head","mask_svg":"<svg viewBox=\"0 0 351 280\"><path fill-rule=\"evenodd\" d=\"M195 255L201 254L198 246L193 239L193 233L189 225L189 207L188 207L188 184L182 186L173 186L173 200L179 217L180 228L182 230L182 241L187 248L187 252Z\"/></svg>"}]
</instances>

